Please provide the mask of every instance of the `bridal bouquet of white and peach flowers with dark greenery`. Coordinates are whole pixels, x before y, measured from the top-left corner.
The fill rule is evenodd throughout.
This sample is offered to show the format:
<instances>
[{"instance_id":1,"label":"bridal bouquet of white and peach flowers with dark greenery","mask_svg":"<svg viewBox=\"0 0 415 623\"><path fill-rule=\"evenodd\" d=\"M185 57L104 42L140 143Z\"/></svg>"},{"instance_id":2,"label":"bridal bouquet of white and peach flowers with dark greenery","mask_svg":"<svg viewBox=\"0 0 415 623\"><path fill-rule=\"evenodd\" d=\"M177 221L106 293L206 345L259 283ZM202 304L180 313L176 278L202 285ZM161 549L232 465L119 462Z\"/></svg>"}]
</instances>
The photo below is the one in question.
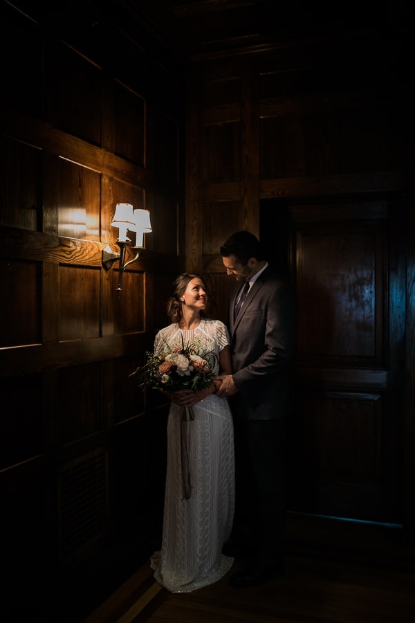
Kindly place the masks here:
<instances>
[{"instance_id":1,"label":"bridal bouquet of white and peach flowers with dark greenery","mask_svg":"<svg viewBox=\"0 0 415 623\"><path fill-rule=\"evenodd\" d=\"M199 390L208 387L215 375L212 372L209 352L199 352L196 345L186 344L170 348L155 355L146 352L146 363L129 376L138 380L142 390L163 390L172 394L183 389ZM190 419L194 419L190 408Z\"/></svg>"}]
</instances>

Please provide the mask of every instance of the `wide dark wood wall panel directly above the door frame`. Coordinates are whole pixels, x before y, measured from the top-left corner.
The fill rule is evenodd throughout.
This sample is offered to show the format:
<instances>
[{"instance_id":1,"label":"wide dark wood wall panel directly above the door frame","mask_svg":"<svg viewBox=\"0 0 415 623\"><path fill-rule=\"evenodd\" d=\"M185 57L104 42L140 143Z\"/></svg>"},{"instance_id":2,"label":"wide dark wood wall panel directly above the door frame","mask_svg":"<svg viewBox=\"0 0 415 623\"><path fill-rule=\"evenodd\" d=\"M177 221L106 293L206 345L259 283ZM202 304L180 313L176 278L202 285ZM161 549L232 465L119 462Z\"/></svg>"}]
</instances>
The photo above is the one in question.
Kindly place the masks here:
<instances>
[{"instance_id":1,"label":"wide dark wood wall panel directly above the door frame","mask_svg":"<svg viewBox=\"0 0 415 623\"><path fill-rule=\"evenodd\" d=\"M261 177L399 170L403 132L399 109L390 106L267 117L261 120Z\"/></svg>"}]
</instances>

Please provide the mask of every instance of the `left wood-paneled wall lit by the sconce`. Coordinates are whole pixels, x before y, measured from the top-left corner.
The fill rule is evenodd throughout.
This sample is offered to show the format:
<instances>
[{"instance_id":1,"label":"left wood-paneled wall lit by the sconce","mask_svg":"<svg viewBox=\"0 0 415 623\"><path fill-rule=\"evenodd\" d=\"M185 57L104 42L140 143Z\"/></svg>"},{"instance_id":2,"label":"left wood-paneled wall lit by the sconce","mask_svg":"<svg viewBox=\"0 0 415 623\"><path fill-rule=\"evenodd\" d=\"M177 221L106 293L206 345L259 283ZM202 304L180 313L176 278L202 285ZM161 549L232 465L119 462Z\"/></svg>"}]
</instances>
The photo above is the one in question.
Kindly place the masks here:
<instances>
[{"instance_id":1,"label":"left wood-paneled wall lit by the sconce","mask_svg":"<svg viewBox=\"0 0 415 623\"><path fill-rule=\"evenodd\" d=\"M1 552L12 579L40 560L53 575L120 530L147 555L161 521L167 406L128 377L167 322L181 265L183 79L146 33L138 46L91 3L0 11ZM118 202L148 208L153 227L121 292L118 264L102 267L104 246L118 251Z\"/></svg>"}]
</instances>

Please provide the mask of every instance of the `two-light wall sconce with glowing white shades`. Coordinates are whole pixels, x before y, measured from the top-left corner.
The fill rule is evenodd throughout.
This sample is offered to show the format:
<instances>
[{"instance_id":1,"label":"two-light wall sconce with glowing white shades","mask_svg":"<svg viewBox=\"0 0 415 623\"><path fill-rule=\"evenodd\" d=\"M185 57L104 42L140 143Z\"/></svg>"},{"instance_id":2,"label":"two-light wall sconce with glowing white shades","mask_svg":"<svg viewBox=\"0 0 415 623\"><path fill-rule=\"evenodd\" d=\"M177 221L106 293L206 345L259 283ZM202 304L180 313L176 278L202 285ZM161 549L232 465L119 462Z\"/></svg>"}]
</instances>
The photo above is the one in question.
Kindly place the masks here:
<instances>
[{"instance_id":1,"label":"two-light wall sconce with glowing white shades","mask_svg":"<svg viewBox=\"0 0 415 623\"><path fill-rule=\"evenodd\" d=\"M120 262L117 290L121 290L124 269L138 260L140 256L138 249L143 249L144 234L153 231L151 229L149 210L134 210L131 204L117 204L111 225L118 227L119 230L117 244L120 247L120 253L113 253L111 246L107 244L102 249L102 266L107 271L111 268L113 262ZM125 262L127 246L131 242L129 237L127 237L127 230L136 232L136 244L131 247L133 251L136 251L136 257L129 260L129 262Z\"/></svg>"}]
</instances>

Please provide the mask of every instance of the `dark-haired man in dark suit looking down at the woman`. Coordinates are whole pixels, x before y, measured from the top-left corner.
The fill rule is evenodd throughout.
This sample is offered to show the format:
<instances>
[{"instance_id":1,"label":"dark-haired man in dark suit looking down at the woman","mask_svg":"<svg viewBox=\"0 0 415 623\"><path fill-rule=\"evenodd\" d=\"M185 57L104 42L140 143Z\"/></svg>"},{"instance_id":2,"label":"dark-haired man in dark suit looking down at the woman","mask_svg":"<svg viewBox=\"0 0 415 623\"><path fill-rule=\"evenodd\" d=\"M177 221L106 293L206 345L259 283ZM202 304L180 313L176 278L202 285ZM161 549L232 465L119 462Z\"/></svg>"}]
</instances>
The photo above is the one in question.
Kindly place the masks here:
<instances>
[{"instance_id":1,"label":"dark-haired man in dark suit looking down at the woman","mask_svg":"<svg viewBox=\"0 0 415 623\"><path fill-rule=\"evenodd\" d=\"M257 586L283 572L286 516L284 428L291 405L297 303L291 287L265 260L255 235L239 231L221 246L223 265L237 280L228 328L233 374L217 392L234 415L237 507L225 554L248 554L235 587Z\"/></svg>"}]
</instances>

